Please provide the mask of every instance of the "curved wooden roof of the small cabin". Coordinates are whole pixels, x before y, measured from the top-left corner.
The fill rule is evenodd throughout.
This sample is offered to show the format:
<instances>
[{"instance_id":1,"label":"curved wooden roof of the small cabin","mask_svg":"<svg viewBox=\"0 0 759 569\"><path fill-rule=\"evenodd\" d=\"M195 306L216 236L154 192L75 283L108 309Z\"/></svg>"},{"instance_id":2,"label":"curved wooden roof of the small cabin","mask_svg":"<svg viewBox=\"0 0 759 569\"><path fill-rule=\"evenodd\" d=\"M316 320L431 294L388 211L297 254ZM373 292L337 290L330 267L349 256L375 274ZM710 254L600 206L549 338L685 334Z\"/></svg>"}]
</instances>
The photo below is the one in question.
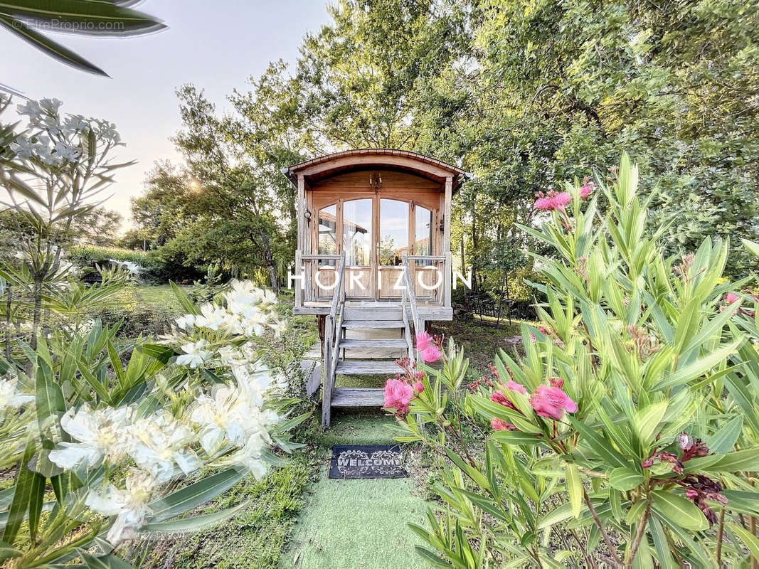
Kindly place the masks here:
<instances>
[{"instance_id":1,"label":"curved wooden roof of the small cabin","mask_svg":"<svg viewBox=\"0 0 759 569\"><path fill-rule=\"evenodd\" d=\"M389 148L361 148L333 152L282 168L282 173L297 184L298 174L304 175L310 183L330 178L346 171L370 170L372 168L389 168L410 171L414 174L445 181L453 178L453 188L456 189L467 178L467 173L446 162L425 156L410 150Z\"/></svg>"}]
</instances>

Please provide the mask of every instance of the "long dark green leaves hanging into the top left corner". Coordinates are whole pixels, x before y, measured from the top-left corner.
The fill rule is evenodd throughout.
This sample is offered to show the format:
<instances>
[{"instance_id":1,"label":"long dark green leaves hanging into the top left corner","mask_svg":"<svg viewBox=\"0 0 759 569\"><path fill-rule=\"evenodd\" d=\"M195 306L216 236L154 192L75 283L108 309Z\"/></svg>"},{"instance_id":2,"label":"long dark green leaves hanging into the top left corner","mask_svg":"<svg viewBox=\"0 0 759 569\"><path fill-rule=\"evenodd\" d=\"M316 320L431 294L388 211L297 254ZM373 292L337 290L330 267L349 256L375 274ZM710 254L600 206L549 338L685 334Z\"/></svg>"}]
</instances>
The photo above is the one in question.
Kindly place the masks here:
<instances>
[{"instance_id":1,"label":"long dark green leaves hanging into the top left corner","mask_svg":"<svg viewBox=\"0 0 759 569\"><path fill-rule=\"evenodd\" d=\"M163 30L153 16L128 8L131 0L5 0L0 5L0 27L14 33L52 58L82 71L105 75L105 71L77 55L39 30L77 36L137 36Z\"/></svg>"}]
</instances>

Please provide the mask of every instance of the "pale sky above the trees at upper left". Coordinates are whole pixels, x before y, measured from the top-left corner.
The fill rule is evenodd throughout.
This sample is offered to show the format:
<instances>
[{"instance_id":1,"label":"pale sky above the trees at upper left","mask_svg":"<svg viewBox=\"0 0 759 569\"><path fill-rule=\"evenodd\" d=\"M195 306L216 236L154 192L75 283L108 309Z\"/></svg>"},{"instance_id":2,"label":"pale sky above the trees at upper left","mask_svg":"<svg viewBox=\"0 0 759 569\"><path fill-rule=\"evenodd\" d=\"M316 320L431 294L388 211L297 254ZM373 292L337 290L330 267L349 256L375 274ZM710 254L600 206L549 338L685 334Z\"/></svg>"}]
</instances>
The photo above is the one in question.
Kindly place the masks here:
<instances>
[{"instance_id":1,"label":"pale sky above the trees at upper left","mask_svg":"<svg viewBox=\"0 0 759 569\"><path fill-rule=\"evenodd\" d=\"M233 89L244 90L269 61L294 63L305 33L329 21L326 0L146 0L137 9L168 30L124 39L50 34L110 78L61 64L0 29L0 83L30 99L61 99L63 112L116 124L127 146L114 156L137 160L117 172L104 204L124 215L122 230L130 227L129 200L142 193L153 163L180 158L168 140L180 127L175 89L194 83L217 111L228 109L225 97Z\"/></svg>"}]
</instances>

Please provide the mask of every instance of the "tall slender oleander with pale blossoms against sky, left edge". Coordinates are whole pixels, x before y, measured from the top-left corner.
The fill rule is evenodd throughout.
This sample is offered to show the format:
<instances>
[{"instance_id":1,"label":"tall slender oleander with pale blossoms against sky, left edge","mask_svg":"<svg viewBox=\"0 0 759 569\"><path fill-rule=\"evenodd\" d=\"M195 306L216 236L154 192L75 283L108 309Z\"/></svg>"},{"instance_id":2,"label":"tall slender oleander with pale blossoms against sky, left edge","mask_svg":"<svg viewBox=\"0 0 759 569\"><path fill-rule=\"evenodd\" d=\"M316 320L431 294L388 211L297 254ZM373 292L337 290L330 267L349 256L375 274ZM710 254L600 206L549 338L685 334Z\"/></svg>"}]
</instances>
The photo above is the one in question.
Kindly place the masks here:
<instances>
[{"instance_id":1,"label":"tall slender oleander with pale blossoms against sky, left edge","mask_svg":"<svg viewBox=\"0 0 759 569\"><path fill-rule=\"evenodd\" d=\"M0 112L10 98L0 95ZM74 219L96 207L96 198L112 184L115 170L132 165L112 162L123 146L109 121L64 115L57 99L27 101L17 112L25 121L0 124L0 183L19 222L20 267L2 277L26 288L32 305L31 347L36 349L43 294L65 281L63 247L71 244ZM23 231L21 231L23 230ZM10 295L10 292L8 293ZM10 299L10 296L8 296Z\"/></svg>"}]
</instances>

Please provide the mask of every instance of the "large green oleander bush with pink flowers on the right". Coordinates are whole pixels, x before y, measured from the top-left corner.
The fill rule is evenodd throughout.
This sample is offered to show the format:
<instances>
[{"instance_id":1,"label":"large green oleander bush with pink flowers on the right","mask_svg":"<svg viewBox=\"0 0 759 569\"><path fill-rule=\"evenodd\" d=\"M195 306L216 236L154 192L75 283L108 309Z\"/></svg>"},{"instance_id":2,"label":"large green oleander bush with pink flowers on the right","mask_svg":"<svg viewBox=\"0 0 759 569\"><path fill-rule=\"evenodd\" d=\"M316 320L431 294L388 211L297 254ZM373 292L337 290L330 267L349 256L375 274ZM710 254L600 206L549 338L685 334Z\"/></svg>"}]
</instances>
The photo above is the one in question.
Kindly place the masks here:
<instances>
[{"instance_id":1,"label":"large green oleander bush with pink flowers on the right","mask_svg":"<svg viewBox=\"0 0 759 569\"><path fill-rule=\"evenodd\" d=\"M627 156L609 184L538 196L543 223L523 229L556 255L535 255L546 302L524 357L502 352L465 386L463 351L449 342L433 369L423 336L423 363L388 382L398 441L445 459L427 527L412 527L433 566L759 558L759 298L723 278L724 242L663 256L651 196Z\"/></svg>"}]
</instances>

